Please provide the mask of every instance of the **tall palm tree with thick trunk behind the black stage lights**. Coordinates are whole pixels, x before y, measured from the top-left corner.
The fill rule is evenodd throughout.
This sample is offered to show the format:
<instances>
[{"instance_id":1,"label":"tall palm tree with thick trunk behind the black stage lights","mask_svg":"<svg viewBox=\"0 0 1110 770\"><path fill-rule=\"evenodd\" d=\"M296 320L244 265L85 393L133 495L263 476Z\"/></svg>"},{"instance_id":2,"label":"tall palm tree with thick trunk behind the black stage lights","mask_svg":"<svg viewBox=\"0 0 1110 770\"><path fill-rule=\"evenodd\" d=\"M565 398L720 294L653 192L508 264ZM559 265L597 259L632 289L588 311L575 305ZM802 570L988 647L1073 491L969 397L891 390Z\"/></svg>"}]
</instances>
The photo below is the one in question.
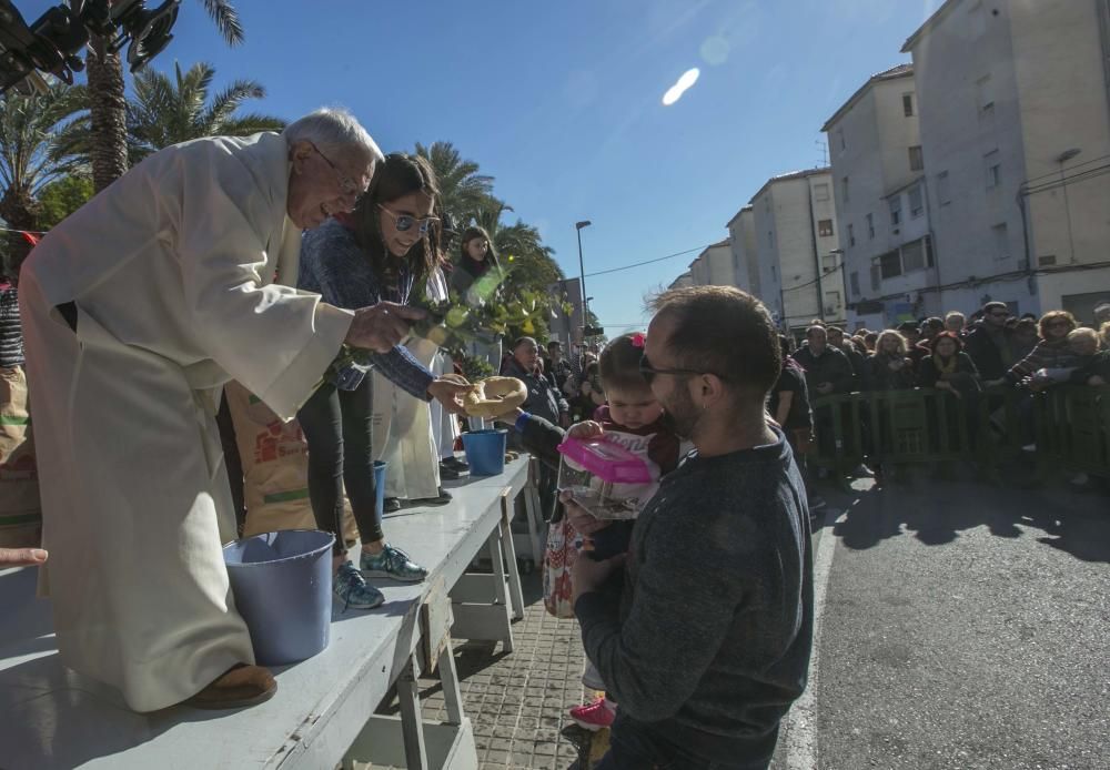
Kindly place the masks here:
<instances>
[{"instance_id":1,"label":"tall palm tree with thick trunk behind the black stage lights","mask_svg":"<svg viewBox=\"0 0 1110 770\"><path fill-rule=\"evenodd\" d=\"M70 0L80 12L83 0ZM235 7L229 0L201 0L216 29L229 45L243 42L243 28ZM101 191L128 170L128 123L124 98L123 67L117 53L108 51L104 39L92 36L88 64L92 181Z\"/></svg>"}]
</instances>

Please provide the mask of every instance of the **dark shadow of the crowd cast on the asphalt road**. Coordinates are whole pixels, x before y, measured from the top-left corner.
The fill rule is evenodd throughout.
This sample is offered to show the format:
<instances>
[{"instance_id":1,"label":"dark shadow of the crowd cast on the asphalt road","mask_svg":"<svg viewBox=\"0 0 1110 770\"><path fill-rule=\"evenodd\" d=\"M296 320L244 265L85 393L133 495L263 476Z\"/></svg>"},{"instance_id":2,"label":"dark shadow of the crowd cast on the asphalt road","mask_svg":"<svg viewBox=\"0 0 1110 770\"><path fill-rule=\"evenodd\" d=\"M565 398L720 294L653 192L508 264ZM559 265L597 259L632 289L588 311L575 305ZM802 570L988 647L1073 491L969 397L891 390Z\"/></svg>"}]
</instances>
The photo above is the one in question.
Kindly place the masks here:
<instances>
[{"instance_id":1,"label":"dark shadow of the crowd cast on the asphalt road","mask_svg":"<svg viewBox=\"0 0 1110 770\"><path fill-rule=\"evenodd\" d=\"M1083 561L1110 563L1110 506L1104 492L938 480L921 470L841 499L846 514L833 531L855 550L899 536L939 546L961 531L988 527L996 537L1032 536Z\"/></svg>"}]
</instances>

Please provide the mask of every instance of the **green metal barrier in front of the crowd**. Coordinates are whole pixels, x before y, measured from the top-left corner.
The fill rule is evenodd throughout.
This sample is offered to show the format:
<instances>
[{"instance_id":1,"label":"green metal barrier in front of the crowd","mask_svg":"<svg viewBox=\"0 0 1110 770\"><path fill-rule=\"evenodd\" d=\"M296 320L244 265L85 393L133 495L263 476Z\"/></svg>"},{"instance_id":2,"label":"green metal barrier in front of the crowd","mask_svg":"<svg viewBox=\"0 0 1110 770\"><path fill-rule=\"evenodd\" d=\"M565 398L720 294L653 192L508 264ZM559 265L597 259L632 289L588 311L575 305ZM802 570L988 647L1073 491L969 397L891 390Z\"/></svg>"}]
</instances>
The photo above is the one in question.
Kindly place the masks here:
<instances>
[{"instance_id":1,"label":"green metal barrier in front of the crowd","mask_svg":"<svg viewBox=\"0 0 1110 770\"><path fill-rule=\"evenodd\" d=\"M865 462L976 462L991 472L1033 436L1042 473L1110 476L1110 386L992 388L963 398L932 388L821 396L814 429L810 463L840 479Z\"/></svg>"}]
</instances>

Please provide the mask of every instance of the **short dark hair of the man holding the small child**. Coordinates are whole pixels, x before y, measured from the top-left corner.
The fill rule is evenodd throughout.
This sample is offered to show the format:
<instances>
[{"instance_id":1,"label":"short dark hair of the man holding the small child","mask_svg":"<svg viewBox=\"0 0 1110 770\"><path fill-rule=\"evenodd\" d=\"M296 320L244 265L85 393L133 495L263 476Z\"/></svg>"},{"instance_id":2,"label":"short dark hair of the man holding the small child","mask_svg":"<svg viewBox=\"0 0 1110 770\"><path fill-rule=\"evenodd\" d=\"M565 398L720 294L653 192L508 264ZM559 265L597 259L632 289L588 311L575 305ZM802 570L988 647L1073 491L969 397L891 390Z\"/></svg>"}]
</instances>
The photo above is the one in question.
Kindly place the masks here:
<instances>
[{"instance_id":1,"label":"short dark hair of the man holding the small child","mask_svg":"<svg viewBox=\"0 0 1110 770\"><path fill-rule=\"evenodd\" d=\"M761 302L731 286L674 288L652 302L674 320L668 348L678 366L720 377L760 402L783 369L778 331Z\"/></svg>"}]
</instances>

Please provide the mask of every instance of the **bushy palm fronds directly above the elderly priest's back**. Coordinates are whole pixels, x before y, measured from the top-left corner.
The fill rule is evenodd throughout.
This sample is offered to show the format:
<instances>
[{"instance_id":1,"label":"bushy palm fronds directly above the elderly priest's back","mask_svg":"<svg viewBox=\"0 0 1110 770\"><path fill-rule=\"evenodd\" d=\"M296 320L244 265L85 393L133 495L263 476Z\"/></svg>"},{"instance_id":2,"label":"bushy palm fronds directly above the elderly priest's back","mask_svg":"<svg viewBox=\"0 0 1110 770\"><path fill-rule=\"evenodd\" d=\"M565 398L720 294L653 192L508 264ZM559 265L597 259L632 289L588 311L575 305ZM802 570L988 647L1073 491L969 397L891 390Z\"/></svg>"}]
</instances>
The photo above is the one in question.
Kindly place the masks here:
<instances>
[{"instance_id":1,"label":"bushy palm fronds directly above the elderly priest's back","mask_svg":"<svg viewBox=\"0 0 1110 770\"><path fill-rule=\"evenodd\" d=\"M129 156L138 163L162 148L201 136L248 136L259 131L281 131L280 118L236 115L249 99L263 99L266 91L253 80L236 80L209 102L215 70L206 62L186 72L174 63L175 79L154 70L135 75L135 98L128 102Z\"/></svg>"}]
</instances>

